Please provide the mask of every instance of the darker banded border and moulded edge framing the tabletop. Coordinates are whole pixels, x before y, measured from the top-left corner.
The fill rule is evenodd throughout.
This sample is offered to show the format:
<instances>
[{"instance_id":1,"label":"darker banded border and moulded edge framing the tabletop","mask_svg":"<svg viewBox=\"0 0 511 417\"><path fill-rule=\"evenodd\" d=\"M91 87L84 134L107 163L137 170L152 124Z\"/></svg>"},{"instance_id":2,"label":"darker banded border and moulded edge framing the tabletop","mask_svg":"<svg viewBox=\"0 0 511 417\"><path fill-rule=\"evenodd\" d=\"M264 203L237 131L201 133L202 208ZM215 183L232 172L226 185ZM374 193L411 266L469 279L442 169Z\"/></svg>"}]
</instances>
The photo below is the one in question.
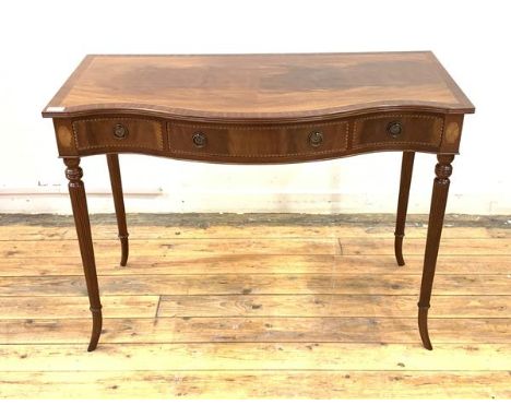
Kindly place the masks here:
<instances>
[{"instance_id":1,"label":"darker banded border and moulded edge framing the tabletop","mask_svg":"<svg viewBox=\"0 0 511 417\"><path fill-rule=\"evenodd\" d=\"M171 108L161 105L151 105L143 103L111 103L111 104L91 104L83 106L61 107L59 104L69 93L73 82L85 71L95 57L211 57L211 56L247 56L248 53L231 55L87 55L61 86L58 93L45 107L41 115L44 118L72 118L86 117L93 115L126 114L133 116L153 116L177 120L190 120L202 122L296 122L314 121L322 119L334 119L348 116L357 116L372 112L390 111L425 111L438 114L473 114L475 106L466 97L460 86L454 82L449 72L431 51L381 51L381 52L319 52L319 53L250 53L250 56L262 55L364 55L364 53L427 53L438 64L443 81L447 83L457 104L447 104L438 102L420 100L384 100L348 106L338 106L314 110L296 110L286 112L218 112L204 111L186 108ZM59 110L55 110L59 108Z\"/></svg>"}]
</instances>

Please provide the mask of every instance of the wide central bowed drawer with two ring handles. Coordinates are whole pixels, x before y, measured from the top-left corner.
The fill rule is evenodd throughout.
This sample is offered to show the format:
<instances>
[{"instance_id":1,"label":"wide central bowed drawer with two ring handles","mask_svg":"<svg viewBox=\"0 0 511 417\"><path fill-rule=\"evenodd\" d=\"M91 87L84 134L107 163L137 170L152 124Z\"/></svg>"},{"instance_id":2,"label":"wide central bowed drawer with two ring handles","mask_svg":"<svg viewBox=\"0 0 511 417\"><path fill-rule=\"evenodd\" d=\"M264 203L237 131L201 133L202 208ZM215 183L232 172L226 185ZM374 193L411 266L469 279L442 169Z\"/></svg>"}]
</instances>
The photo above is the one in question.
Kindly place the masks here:
<instances>
[{"instance_id":1,"label":"wide central bowed drawer with two ring handles","mask_svg":"<svg viewBox=\"0 0 511 417\"><path fill-rule=\"evenodd\" d=\"M347 147L348 122L274 126L216 126L169 122L168 147L182 157L278 162L312 159Z\"/></svg>"}]
</instances>

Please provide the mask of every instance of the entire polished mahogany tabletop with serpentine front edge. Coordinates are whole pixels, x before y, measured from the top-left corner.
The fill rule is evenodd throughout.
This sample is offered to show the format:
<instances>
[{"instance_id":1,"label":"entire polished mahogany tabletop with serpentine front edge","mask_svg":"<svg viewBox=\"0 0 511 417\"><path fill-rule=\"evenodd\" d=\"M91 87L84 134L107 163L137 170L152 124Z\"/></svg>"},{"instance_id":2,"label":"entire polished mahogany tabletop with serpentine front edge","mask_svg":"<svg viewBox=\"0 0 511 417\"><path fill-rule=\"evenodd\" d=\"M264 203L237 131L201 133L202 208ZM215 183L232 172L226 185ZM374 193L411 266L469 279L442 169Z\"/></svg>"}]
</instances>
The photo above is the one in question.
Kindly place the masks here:
<instances>
[{"instance_id":1,"label":"entire polished mahogany tabletop with serpentine front edge","mask_svg":"<svg viewBox=\"0 0 511 417\"><path fill-rule=\"evenodd\" d=\"M473 112L429 51L87 56L43 111L300 119L388 107Z\"/></svg>"}]
</instances>

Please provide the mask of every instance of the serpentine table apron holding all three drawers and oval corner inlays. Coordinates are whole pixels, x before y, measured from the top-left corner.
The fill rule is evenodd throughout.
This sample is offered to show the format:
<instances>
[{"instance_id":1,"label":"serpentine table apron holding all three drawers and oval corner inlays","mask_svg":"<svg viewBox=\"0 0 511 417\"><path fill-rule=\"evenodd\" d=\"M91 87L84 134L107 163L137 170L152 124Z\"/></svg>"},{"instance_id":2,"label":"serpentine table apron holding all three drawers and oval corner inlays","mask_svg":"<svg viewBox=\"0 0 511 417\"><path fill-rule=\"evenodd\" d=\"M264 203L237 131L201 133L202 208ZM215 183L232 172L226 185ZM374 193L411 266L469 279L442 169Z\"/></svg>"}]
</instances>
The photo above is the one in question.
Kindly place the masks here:
<instances>
[{"instance_id":1,"label":"serpentine table apron holding all three drawers and oval corner inlays","mask_svg":"<svg viewBox=\"0 0 511 417\"><path fill-rule=\"evenodd\" d=\"M314 122L212 123L136 115L56 118L61 157L138 153L234 164L401 151L456 154L463 115L381 111Z\"/></svg>"}]
</instances>

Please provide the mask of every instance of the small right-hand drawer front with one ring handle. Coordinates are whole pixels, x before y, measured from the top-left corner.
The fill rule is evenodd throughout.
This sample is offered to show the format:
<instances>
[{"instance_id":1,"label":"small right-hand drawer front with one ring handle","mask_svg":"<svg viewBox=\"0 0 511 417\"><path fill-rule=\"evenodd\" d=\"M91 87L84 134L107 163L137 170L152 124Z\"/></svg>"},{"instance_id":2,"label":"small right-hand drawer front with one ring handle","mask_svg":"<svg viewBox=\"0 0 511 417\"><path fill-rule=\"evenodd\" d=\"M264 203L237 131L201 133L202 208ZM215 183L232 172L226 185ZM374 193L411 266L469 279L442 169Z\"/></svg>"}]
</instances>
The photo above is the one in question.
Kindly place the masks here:
<instances>
[{"instance_id":1,"label":"small right-hand drawer front with one ring handle","mask_svg":"<svg viewBox=\"0 0 511 417\"><path fill-rule=\"evenodd\" d=\"M389 114L355 119L353 148L438 148L443 118L435 115Z\"/></svg>"}]
</instances>

